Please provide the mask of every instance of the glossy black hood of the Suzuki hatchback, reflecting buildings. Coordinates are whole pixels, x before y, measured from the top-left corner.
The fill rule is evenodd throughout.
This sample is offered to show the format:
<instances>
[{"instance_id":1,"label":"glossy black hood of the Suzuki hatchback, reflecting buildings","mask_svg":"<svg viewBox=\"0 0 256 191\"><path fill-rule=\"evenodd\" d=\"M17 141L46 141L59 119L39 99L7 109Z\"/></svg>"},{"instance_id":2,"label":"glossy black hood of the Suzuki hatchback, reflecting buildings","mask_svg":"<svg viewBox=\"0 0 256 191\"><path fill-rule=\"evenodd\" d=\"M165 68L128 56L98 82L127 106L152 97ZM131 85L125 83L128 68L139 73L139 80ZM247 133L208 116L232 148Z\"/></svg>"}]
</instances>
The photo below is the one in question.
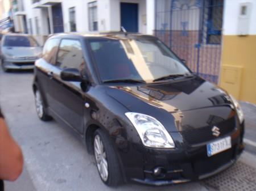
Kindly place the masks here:
<instances>
[{"instance_id":1,"label":"glossy black hood of the Suzuki hatchback, reflecting buildings","mask_svg":"<svg viewBox=\"0 0 256 191\"><path fill-rule=\"evenodd\" d=\"M200 128L207 124L210 116L220 116L223 120L234 116L226 92L199 77L169 83L110 87L107 92L129 111L155 117L168 131L182 131L187 128L184 122L195 124L198 120L201 124L197 122L190 127Z\"/></svg>"}]
</instances>

